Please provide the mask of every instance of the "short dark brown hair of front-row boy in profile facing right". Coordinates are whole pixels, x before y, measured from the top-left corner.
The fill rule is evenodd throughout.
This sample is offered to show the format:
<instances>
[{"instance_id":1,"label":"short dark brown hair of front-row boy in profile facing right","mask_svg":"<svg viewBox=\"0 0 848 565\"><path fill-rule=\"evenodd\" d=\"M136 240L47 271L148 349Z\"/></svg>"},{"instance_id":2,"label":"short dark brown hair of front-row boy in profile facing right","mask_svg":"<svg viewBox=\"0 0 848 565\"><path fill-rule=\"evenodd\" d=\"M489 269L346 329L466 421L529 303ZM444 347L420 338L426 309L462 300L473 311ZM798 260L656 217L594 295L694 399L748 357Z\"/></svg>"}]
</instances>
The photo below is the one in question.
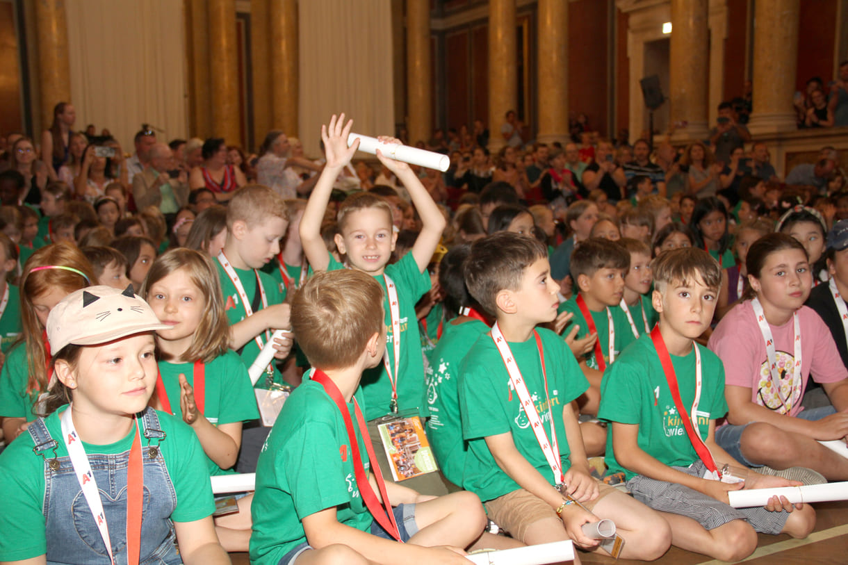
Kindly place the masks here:
<instances>
[{"instance_id":1,"label":"short dark brown hair of front-row boy in profile facing right","mask_svg":"<svg viewBox=\"0 0 848 565\"><path fill-rule=\"evenodd\" d=\"M466 286L471 296L489 314L495 315L495 297L501 290L516 290L521 286L524 271L548 250L536 238L512 232L497 232L471 244L466 260Z\"/></svg>"}]
</instances>

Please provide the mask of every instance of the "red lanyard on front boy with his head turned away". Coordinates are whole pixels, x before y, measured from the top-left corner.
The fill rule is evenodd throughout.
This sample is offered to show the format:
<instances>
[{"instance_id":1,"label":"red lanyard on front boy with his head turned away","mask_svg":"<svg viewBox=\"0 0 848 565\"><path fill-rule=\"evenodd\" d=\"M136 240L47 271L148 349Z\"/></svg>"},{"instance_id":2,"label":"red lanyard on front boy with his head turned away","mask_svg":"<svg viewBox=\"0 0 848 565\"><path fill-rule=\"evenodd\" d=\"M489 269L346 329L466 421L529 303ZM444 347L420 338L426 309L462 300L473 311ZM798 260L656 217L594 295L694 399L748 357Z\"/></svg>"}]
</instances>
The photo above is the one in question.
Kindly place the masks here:
<instances>
[{"instance_id":1,"label":"red lanyard on front boy with his head turned away","mask_svg":"<svg viewBox=\"0 0 848 565\"><path fill-rule=\"evenodd\" d=\"M368 461L371 462L371 468L374 471L374 478L377 479L377 488L380 489L382 496L382 504L377 500L377 495L374 494L374 489L371 488L371 483L368 482L368 477L365 475L365 467L362 465L360 457L360 445L356 441L356 432L354 432L354 423L350 420L350 414L346 403L339 391L336 383L333 383L326 374L320 369L315 369L312 374L312 380L321 384L324 387L326 394L332 398L333 402L338 406L338 410L342 412L344 427L348 429L348 439L350 440L350 451L354 458L354 473L356 475L356 485L360 489L362 500L365 501L365 506L368 507L368 512L377 520L395 540L400 541L400 530L398 523L394 520L394 512L392 512L391 503L388 501L388 493L386 492L386 482L382 479L380 465L377 463L377 457L374 456L374 446L371 445L371 437L368 435L368 430L365 428L365 418L362 417L360 405L357 404L354 398L354 411L356 412L356 423L359 425L362 440L365 442L365 450L368 453ZM383 507L385 505L385 508Z\"/></svg>"}]
</instances>

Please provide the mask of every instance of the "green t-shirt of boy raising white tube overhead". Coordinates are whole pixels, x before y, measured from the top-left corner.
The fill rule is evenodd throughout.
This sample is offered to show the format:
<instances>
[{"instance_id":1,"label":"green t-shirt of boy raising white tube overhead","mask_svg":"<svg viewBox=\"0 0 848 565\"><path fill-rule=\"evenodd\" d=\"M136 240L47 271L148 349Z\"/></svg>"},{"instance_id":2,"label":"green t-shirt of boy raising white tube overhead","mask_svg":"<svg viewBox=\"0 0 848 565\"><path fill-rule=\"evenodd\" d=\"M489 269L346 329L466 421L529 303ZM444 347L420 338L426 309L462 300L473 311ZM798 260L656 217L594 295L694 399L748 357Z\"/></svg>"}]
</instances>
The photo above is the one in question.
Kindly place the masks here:
<instances>
[{"instance_id":1,"label":"green t-shirt of boy raising white tube overhead","mask_svg":"<svg viewBox=\"0 0 848 565\"><path fill-rule=\"evenodd\" d=\"M343 269L344 266L330 255L330 263L327 271ZM430 290L430 274L418 269L416 258L407 253L403 259L385 269L389 278L394 281L394 287L398 291L399 316L400 316L400 363L398 368L398 410L416 410L421 412L422 417L427 416L427 402L424 399L424 358L421 356L421 335L418 333L418 318L416 316L416 303L421 296ZM388 307L388 292L386 291L386 279L382 276L374 277L382 285L385 297L382 302L386 315L386 326L388 335L386 337L386 350L388 351L388 364L394 371L394 347L392 332L392 316ZM389 414L388 405L392 400L392 383L388 378L384 363L366 369L362 373L360 388L365 399L365 418L373 420Z\"/></svg>"}]
</instances>

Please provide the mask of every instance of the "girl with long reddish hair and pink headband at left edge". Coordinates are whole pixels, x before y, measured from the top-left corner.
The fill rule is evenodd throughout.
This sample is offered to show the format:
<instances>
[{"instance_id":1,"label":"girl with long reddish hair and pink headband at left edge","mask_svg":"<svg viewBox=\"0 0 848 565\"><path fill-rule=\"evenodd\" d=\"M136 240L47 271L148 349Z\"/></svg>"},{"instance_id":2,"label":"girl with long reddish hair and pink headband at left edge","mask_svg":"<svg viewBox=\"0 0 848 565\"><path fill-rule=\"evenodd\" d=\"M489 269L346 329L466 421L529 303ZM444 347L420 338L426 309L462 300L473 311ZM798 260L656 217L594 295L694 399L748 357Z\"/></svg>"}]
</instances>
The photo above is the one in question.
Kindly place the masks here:
<instances>
[{"instance_id":1,"label":"girl with long reddish hair and pink headband at left edge","mask_svg":"<svg viewBox=\"0 0 848 565\"><path fill-rule=\"evenodd\" d=\"M32 254L20 277L23 338L9 350L0 372L0 417L8 445L39 416L42 394L53 376L45 324L47 314L68 294L96 280L75 245L53 243Z\"/></svg>"}]
</instances>

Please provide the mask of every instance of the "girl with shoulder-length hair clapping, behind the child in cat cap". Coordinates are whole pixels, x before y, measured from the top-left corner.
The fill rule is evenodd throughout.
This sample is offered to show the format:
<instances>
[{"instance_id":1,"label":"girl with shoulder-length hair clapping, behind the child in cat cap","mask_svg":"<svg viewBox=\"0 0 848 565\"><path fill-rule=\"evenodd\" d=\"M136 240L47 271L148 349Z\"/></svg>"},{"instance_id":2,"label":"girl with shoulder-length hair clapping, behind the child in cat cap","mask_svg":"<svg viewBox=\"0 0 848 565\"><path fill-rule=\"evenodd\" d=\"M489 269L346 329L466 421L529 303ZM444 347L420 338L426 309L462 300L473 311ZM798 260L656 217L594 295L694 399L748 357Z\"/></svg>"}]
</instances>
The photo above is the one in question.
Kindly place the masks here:
<instances>
[{"instance_id":1,"label":"girl with shoulder-length hair clapping, behind the child in cat cap","mask_svg":"<svg viewBox=\"0 0 848 565\"><path fill-rule=\"evenodd\" d=\"M259 417L247 367L230 350L214 259L192 249L171 249L153 262L142 296L168 327L156 332L159 381L151 406L182 418L198 435L212 475L235 473L242 422ZM226 551L248 551L250 502L215 518Z\"/></svg>"}]
</instances>

